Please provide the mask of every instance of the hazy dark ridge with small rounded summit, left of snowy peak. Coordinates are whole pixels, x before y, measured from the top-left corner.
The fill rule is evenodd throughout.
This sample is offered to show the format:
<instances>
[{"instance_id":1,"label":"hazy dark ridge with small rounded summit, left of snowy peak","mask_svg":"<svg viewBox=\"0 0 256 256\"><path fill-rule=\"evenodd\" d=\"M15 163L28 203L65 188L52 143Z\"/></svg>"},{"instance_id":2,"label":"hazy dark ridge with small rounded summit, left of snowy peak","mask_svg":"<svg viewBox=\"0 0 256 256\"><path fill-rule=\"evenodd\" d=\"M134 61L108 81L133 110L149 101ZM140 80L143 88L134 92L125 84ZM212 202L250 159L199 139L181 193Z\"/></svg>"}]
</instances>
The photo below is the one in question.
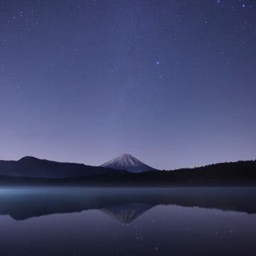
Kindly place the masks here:
<instances>
[{"instance_id":1,"label":"hazy dark ridge with small rounded summit, left of snowy peak","mask_svg":"<svg viewBox=\"0 0 256 256\"><path fill-rule=\"evenodd\" d=\"M85 164L61 163L25 156L18 161L0 161L0 176L29 178L75 178L117 171Z\"/></svg>"}]
</instances>

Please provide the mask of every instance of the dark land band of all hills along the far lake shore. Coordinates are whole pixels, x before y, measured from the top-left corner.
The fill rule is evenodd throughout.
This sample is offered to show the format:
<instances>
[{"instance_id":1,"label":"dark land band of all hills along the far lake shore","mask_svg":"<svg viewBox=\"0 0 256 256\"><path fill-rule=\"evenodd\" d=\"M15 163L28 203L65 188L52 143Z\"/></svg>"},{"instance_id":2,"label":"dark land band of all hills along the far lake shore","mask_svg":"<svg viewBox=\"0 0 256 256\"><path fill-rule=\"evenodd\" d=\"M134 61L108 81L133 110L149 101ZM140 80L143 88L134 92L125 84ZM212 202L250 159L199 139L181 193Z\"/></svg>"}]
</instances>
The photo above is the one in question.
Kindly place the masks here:
<instances>
[{"instance_id":1,"label":"dark land band of all hills along the far lake shore","mask_svg":"<svg viewBox=\"0 0 256 256\"><path fill-rule=\"evenodd\" d=\"M256 161L132 173L26 156L18 161L0 161L0 184L10 183L76 186L255 186Z\"/></svg>"}]
</instances>

